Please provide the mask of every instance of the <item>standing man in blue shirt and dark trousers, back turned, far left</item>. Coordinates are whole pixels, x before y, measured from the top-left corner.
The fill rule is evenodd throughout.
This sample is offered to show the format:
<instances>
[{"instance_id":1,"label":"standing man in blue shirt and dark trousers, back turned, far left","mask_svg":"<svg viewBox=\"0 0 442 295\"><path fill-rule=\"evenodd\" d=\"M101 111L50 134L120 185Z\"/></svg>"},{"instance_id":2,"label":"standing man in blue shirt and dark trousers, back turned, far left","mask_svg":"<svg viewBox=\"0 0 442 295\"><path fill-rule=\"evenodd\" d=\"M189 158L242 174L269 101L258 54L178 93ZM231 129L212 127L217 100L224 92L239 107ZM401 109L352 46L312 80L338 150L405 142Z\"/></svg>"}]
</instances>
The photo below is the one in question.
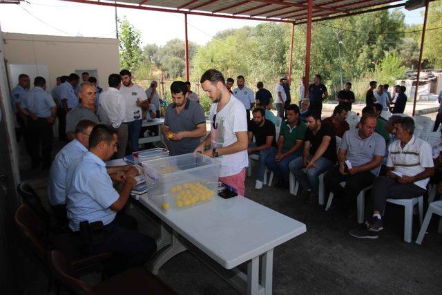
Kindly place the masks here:
<instances>
[{"instance_id":1,"label":"standing man in blue shirt and dark trousers, back turned, far left","mask_svg":"<svg viewBox=\"0 0 442 295\"><path fill-rule=\"evenodd\" d=\"M52 124L55 121L57 108L52 96L46 93L46 79L44 77L35 77L34 88L24 95L20 107L21 112L27 116L26 132L30 144L31 167L35 169L43 162L41 168L49 169L50 153L54 140Z\"/></svg>"}]
</instances>

